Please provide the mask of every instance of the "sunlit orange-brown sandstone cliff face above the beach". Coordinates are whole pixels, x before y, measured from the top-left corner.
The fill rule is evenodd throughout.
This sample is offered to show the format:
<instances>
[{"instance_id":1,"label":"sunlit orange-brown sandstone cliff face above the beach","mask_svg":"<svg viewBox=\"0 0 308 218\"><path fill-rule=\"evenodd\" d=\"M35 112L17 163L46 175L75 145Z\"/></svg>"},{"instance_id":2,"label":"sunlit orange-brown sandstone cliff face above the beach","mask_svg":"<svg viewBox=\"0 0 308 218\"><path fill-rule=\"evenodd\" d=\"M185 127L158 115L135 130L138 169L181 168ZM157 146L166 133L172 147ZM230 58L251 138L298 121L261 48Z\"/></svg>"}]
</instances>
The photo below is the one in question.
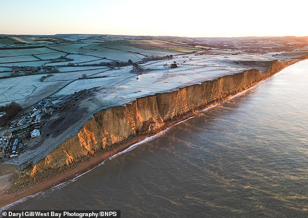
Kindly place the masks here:
<instances>
[{"instance_id":1,"label":"sunlit orange-brown sandstone cliff face above the beach","mask_svg":"<svg viewBox=\"0 0 308 218\"><path fill-rule=\"evenodd\" d=\"M167 121L221 102L271 77L284 67L285 64L273 61L264 73L251 69L102 110L85 123L78 135L63 142L45 159L36 163L27 174L34 176L43 171L57 169L131 137L153 134L163 129Z\"/></svg>"}]
</instances>

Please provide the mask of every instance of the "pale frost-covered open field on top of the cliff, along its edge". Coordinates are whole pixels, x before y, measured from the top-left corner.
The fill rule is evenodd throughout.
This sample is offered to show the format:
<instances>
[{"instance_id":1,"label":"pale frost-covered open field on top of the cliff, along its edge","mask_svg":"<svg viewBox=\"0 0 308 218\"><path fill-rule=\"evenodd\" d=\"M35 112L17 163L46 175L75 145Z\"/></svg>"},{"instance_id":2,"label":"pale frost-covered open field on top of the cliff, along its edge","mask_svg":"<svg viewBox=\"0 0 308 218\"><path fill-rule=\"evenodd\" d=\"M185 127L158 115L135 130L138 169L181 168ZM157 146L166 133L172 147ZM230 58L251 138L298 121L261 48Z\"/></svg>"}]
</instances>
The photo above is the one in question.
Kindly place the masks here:
<instances>
[{"instance_id":1,"label":"pale frost-covered open field on top of the cliff, along its edge","mask_svg":"<svg viewBox=\"0 0 308 218\"><path fill-rule=\"evenodd\" d=\"M227 57L230 60L225 61L225 59L228 59ZM252 68L251 66L239 66L234 62L246 60L267 61L268 59L254 55L230 55L224 57L220 55L188 55L185 57L179 56L172 60L145 63L143 67L147 70L140 75L131 72L133 69L131 66L121 67L119 70L108 70L102 73L97 73L99 71L91 71L91 73L96 73L95 76L107 76L109 79L93 78L77 80L70 83L60 92L55 93L54 96L71 94L83 89L101 86L104 90L105 88L107 90L103 92L102 96L100 92L98 93L99 99L103 101L114 101L120 104L129 102L140 96L167 92ZM173 61L177 62L178 68L170 68ZM167 66L164 66L164 64L167 64ZM65 77L77 78L77 75L82 75L80 72L78 74L76 73L71 76L67 73L67 75L63 74L63 76L57 78L56 76L54 78L51 77L48 80L63 79ZM85 74L89 76L90 72L85 72Z\"/></svg>"}]
</instances>

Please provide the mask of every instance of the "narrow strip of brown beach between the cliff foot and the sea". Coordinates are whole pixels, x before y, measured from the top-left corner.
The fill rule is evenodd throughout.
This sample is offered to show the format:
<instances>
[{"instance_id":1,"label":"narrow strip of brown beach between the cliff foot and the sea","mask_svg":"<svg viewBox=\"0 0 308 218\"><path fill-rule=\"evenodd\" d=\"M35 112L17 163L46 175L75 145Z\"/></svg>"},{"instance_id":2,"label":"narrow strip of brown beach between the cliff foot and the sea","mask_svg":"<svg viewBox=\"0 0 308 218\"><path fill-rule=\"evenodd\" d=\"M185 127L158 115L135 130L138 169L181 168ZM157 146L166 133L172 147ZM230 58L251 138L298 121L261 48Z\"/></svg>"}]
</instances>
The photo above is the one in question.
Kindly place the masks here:
<instances>
[{"instance_id":1,"label":"narrow strip of brown beach between the cliff foot and the sea","mask_svg":"<svg viewBox=\"0 0 308 218\"><path fill-rule=\"evenodd\" d=\"M292 64L294 64L296 62L302 61L302 60L304 60L304 59L293 59L290 62L285 62L285 67L283 67L279 71L275 72L269 78L272 78L276 73L280 72L284 68L286 68L286 67L288 67L288 66L290 66L290 65L292 65ZM260 82L262 82L264 80L267 80L269 78L266 78L266 79L258 81L257 83L255 83L251 87L249 87L248 89L250 89L252 87L255 87ZM242 91L240 93L243 93L246 90L247 89L245 89L244 91ZM240 93L237 93L237 95L240 94ZM229 96L227 99L225 99L223 101L226 101L226 100L232 98L233 96ZM223 102L223 101L221 101L221 102ZM213 105L208 105L206 108L213 107L214 105L217 105L217 104L219 104L221 102L215 103ZM177 123L185 121L189 117L194 116L195 114L199 113L202 110L205 110L206 108L203 108L203 109L198 110L198 111L188 112L188 113L186 113L183 116L177 117L175 120L166 122L166 125L164 126L164 130L166 130L167 128L171 127L172 125L175 125ZM161 132L161 130L157 131L157 132ZM157 134L157 132L155 132L154 134L139 135L137 137L134 137L132 140L130 140L127 143L123 143L123 144L119 144L117 146L114 146L112 151L108 151L108 152L104 152L104 153L103 153L103 151L102 152L98 152L95 156L89 158L89 160L86 160L86 161L80 163L77 167L69 169L67 171L63 171L63 172L58 173L56 175L52 175L52 176L48 177L47 179L42 180L42 181L36 183L35 186L26 187L23 190L19 190L19 191L15 192L15 193L12 193L12 194L4 194L4 195L1 196L0 209L2 209L2 207L6 206L6 205L9 205L9 204L11 204L13 202L16 202L16 201L20 200L22 198L34 195L34 194L36 194L36 193L38 193L40 191L48 190L51 187L54 187L54 186L57 186L57 185L62 184L64 182L67 182L67 181L75 178L76 176L81 175L81 174L85 173L86 171L89 171L89 170L97 167L100 163L102 163L104 160L108 159L109 157L114 156L114 155L124 151L125 149L127 149L130 146L132 146L132 145L134 145L134 144L136 144L136 143L146 139L149 136L153 136L153 135Z\"/></svg>"}]
</instances>

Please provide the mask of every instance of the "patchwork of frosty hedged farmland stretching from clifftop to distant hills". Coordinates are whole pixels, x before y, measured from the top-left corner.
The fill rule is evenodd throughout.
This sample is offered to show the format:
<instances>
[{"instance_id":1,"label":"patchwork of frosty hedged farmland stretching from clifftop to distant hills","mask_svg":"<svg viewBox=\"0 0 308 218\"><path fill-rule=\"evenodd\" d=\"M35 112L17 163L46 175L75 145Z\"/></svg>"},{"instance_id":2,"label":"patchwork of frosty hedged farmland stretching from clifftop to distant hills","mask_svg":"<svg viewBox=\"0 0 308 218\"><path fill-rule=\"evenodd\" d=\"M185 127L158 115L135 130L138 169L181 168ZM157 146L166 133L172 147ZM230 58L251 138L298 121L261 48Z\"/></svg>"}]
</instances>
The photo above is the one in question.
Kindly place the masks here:
<instances>
[{"instance_id":1,"label":"patchwork of frosty hedged farmland stretching from clifftop to distant hills","mask_svg":"<svg viewBox=\"0 0 308 218\"><path fill-rule=\"evenodd\" d=\"M41 40L49 41L46 43ZM198 40L201 39L188 40L185 43L173 39L162 40L158 37L132 39L132 37L99 35L88 37L79 34L63 35L60 38L0 37L0 72L2 72L0 77L11 77L0 79L0 104L15 100L23 105L29 105L52 93L55 93L54 96L68 95L97 86L108 90L100 99L106 101L122 99L126 102L137 96L163 92L245 69L264 70L268 60L273 58L283 60L289 57L289 54L279 54L271 50L264 54L244 54L243 51L227 48L205 50L209 44L212 48L219 48L220 40L223 39L217 39L217 44L207 41L208 39L202 41L208 44L191 44L192 41L199 42ZM243 39L241 46L250 43L245 40ZM254 43L264 47L262 40ZM30 47L31 45L35 47ZM195 55L196 53L198 54ZM167 55L173 55L172 60L168 60ZM51 62L51 59L58 59L61 56L73 60L62 59L64 62ZM118 60L123 63L116 63ZM128 60L137 62L141 70L135 72ZM102 62L110 62L110 67L102 65ZM179 67L171 69L173 62ZM73 66L71 64L68 66L68 63ZM93 66L89 66L91 64ZM12 77L12 66L25 67L19 70L21 72L17 72L17 75L22 75L21 77ZM27 76L22 72L29 72L31 67L38 66L41 69L34 71L35 75ZM50 77L41 81L41 77L48 74L53 76L49 75ZM87 77L93 75L106 78L79 79L83 74ZM68 86L65 86L67 84Z\"/></svg>"}]
</instances>

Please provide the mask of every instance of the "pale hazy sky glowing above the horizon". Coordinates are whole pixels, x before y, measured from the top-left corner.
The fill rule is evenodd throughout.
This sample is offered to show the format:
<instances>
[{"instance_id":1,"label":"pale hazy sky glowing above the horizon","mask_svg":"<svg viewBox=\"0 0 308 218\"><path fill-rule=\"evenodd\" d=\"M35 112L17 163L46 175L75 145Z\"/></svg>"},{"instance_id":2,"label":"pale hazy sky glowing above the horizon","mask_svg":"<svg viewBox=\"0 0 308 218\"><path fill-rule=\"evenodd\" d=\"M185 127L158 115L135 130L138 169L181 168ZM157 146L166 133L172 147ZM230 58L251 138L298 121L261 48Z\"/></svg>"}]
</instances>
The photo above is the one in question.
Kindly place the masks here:
<instances>
[{"instance_id":1,"label":"pale hazy sky glowing above the horizon","mask_svg":"<svg viewBox=\"0 0 308 218\"><path fill-rule=\"evenodd\" d=\"M307 10L302 0L0 0L0 34L308 36Z\"/></svg>"}]
</instances>

